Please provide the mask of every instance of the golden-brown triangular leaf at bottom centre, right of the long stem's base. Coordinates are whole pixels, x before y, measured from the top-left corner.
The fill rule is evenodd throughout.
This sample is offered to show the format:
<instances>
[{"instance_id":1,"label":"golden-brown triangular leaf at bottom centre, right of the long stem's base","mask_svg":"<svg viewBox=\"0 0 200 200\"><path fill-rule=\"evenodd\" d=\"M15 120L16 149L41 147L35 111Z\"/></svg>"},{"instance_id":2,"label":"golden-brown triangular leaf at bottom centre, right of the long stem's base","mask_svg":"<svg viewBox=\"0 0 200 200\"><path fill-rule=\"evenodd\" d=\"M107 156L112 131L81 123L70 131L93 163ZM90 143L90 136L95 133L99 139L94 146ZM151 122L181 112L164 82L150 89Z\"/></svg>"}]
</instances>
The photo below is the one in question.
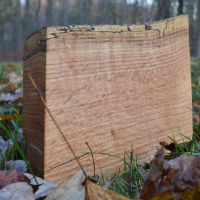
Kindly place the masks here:
<instances>
[{"instance_id":1,"label":"golden-brown triangular leaf at bottom centre, right of the long stem's base","mask_svg":"<svg viewBox=\"0 0 200 200\"><path fill-rule=\"evenodd\" d=\"M128 200L125 196L112 190L102 188L89 180L86 182L85 189L85 200Z\"/></svg>"}]
</instances>

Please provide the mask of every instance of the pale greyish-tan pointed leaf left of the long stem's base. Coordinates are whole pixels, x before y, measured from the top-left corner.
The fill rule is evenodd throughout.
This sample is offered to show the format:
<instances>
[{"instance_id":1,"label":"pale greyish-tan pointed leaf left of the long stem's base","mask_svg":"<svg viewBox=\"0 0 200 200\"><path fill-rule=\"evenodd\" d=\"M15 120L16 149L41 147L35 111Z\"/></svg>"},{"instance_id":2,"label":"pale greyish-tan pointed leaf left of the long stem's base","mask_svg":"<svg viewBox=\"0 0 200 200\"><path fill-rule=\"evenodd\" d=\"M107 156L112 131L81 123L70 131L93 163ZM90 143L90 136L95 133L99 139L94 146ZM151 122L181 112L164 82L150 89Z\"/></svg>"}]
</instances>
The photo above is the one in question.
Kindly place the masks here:
<instances>
[{"instance_id":1,"label":"pale greyish-tan pointed leaf left of the long stem's base","mask_svg":"<svg viewBox=\"0 0 200 200\"><path fill-rule=\"evenodd\" d=\"M65 180L45 200L84 200L85 187L82 181L83 176L83 171L80 170L77 174Z\"/></svg>"}]
</instances>

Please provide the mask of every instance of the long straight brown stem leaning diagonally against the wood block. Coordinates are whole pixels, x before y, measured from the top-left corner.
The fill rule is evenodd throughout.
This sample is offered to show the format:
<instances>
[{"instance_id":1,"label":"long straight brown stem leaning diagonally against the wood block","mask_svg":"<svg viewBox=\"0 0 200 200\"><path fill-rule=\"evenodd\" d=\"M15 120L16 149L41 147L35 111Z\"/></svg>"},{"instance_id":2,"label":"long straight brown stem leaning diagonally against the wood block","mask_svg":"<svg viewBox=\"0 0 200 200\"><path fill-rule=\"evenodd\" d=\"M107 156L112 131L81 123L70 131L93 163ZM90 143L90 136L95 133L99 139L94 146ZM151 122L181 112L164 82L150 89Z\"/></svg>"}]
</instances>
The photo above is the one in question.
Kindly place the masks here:
<instances>
[{"instance_id":1,"label":"long straight brown stem leaning diagonally against the wood block","mask_svg":"<svg viewBox=\"0 0 200 200\"><path fill-rule=\"evenodd\" d=\"M68 142L68 140L67 140L67 138L65 137L64 133L63 133L62 130L60 129L60 127L59 127L58 123L56 122L55 118L54 118L53 115L51 114L51 111L49 110L49 108L48 108L48 106L47 106L47 104L46 104L46 102L45 102L45 100L44 100L44 98L43 98L43 96L42 96L42 94L41 94L39 88L37 87L35 81L33 80L32 76L31 76L31 73L30 73L29 71L27 71L27 75L28 75L28 78L29 78L29 80L31 81L33 87L34 87L35 90L37 91L37 93L38 93L38 95L39 95L39 97L40 97L40 99L41 99L41 101L42 101L44 107L46 108L47 112L49 113L49 115L50 115L52 121L53 121L54 124L56 125L56 128L57 128L58 131L60 132L60 134L61 134L63 140L64 140L65 143L67 144L67 146L68 146L68 148L70 149L70 151L72 152L73 156L76 158L76 161L77 161L79 167L81 168L81 170L83 171L83 174L85 175L85 177L86 177L86 179L87 179L88 176L87 176L86 172L83 170L83 166L81 165L81 163L80 163L80 161L79 161L79 159L78 159L76 153L75 153L74 150L72 149L72 146L70 145L70 143Z\"/></svg>"}]
</instances>

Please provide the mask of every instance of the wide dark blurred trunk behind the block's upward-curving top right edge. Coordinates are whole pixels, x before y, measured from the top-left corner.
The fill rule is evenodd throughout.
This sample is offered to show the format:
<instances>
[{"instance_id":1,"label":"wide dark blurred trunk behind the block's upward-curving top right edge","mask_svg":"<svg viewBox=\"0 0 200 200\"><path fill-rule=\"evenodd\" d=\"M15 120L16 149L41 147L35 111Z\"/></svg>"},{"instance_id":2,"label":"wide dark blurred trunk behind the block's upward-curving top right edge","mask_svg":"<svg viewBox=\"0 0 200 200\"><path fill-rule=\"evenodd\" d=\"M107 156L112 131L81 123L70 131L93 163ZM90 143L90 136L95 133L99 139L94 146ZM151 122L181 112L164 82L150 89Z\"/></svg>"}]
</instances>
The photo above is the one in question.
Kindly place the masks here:
<instances>
[{"instance_id":1,"label":"wide dark blurred trunk behind the block's upward-curving top right edge","mask_svg":"<svg viewBox=\"0 0 200 200\"><path fill-rule=\"evenodd\" d=\"M171 17L171 0L157 0L156 20Z\"/></svg>"}]
</instances>

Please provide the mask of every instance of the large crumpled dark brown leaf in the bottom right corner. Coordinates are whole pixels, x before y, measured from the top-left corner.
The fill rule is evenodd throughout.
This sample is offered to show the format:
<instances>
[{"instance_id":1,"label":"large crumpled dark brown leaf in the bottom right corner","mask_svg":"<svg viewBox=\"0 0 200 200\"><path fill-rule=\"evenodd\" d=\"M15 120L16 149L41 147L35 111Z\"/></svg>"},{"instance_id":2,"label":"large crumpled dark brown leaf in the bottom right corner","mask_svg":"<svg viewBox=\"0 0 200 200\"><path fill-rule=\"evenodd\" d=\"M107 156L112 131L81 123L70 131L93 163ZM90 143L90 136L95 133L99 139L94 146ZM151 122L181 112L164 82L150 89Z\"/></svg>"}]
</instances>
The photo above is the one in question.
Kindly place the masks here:
<instances>
[{"instance_id":1,"label":"large crumpled dark brown leaf in the bottom right corner","mask_svg":"<svg viewBox=\"0 0 200 200\"><path fill-rule=\"evenodd\" d=\"M184 199L185 193L199 184L199 156L182 155L170 161L164 161L163 156L163 150L159 150L154 158L141 195L143 200L162 199L161 194L168 195L168 199Z\"/></svg>"}]
</instances>

